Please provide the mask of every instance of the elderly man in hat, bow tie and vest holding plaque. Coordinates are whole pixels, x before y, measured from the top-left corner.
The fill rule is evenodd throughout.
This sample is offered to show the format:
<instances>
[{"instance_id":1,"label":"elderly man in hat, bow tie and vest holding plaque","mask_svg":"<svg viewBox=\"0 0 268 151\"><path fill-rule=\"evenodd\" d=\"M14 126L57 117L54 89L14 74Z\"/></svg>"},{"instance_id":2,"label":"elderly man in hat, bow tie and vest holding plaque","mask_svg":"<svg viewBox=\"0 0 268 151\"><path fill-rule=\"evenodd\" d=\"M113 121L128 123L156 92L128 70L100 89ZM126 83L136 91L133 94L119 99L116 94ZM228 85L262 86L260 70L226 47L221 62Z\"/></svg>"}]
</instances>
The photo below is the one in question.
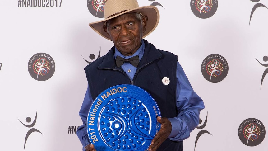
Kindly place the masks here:
<instances>
[{"instance_id":1,"label":"elderly man in hat, bow tie and vest holding plaque","mask_svg":"<svg viewBox=\"0 0 268 151\"><path fill-rule=\"evenodd\" d=\"M139 7L136 0L108 0L104 18L90 23L90 27L112 40L114 47L85 67L88 89L79 112L83 125L77 130L83 150L96 151L97 148L90 144L86 127L88 111L95 98L109 87L132 84L150 93L161 111L162 117L157 117L161 128L151 141L149 151L183 151L183 140L199 124L204 103L193 91L178 57L156 49L143 39L156 28L158 9ZM120 60L124 61L120 63Z\"/></svg>"}]
</instances>

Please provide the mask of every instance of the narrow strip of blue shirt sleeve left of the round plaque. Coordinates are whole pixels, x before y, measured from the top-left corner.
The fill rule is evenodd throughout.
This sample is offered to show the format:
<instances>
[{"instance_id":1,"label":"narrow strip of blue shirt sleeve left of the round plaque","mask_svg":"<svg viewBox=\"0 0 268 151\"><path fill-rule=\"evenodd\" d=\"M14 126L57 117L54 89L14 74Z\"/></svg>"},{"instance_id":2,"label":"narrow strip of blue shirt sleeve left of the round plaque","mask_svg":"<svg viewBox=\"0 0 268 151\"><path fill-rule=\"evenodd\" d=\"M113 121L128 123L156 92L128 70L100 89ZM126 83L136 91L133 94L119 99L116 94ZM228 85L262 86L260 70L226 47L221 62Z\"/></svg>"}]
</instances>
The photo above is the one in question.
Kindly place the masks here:
<instances>
[{"instance_id":1,"label":"narrow strip of blue shirt sleeve left of the round plaque","mask_svg":"<svg viewBox=\"0 0 268 151\"><path fill-rule=\"evenodd\" d=\"M87 134L86 121L87 121L88 111L90 110L92 103L93 103L93 99L91 97L90 89L88 86L86 93L85 93L83 104L79 111L79 116L82 119L83 125L81 125L76 131L76 134L83 145L83 151L85 151L85 146L90 144L88 134Z\"/></svg>"}]
</instances>

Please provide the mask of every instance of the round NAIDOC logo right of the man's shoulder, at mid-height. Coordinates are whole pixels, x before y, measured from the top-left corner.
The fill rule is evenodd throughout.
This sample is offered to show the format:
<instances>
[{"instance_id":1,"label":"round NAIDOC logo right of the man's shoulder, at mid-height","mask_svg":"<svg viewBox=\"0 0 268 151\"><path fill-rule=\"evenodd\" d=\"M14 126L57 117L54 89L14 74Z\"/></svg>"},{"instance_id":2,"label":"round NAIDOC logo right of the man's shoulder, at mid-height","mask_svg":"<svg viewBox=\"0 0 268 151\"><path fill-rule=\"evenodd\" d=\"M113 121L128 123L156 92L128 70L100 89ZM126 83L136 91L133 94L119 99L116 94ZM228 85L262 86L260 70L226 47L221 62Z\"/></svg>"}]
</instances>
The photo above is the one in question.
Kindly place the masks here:
<instances>
[{"instance_id":1,"label":"round NAIDOC logo right of the man's shoulder, at mid-height","mask_svg":"<svg viewBox=\"0 0 268 151\"><path fill-rule=\"evenodd\" d=\"M226 59L219 54L207 56L201 65L204 78L213 83L222 81L227 76L228 70Z\"/></svg>"}]
</instances>

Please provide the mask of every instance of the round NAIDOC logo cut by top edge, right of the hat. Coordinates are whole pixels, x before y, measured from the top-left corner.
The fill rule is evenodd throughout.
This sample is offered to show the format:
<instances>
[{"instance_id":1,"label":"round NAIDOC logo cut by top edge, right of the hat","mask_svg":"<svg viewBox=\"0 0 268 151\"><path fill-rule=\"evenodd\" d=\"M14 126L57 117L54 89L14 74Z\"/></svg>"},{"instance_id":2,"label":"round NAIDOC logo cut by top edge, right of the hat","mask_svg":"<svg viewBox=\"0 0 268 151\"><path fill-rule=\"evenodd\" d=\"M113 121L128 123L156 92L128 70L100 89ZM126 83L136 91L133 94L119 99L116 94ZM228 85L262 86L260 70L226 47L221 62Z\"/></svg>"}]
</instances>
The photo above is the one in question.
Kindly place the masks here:
<instances>
[{"instance_id":1,"label":"round NAIDOC logo cut by top edge, right of the hat","mask_svg":"<svg viewBox=\"0 0 268 151\"><path fill-rule=\"evenodd\" d=\"M218 0L191 0L191 9L196 17L209 18L215 14Z\"/></svg>"}]
</instances>

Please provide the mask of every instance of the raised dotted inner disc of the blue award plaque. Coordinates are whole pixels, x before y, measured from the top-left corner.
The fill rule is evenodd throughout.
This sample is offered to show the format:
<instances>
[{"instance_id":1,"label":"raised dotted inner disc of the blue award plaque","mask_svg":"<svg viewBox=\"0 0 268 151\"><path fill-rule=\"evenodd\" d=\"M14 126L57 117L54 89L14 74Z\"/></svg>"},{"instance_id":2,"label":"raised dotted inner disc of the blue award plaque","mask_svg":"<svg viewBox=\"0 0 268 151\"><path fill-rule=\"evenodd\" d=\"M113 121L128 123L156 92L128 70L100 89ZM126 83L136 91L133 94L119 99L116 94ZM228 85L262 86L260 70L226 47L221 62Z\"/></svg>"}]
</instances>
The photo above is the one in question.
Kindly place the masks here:
<instances>
[{"instance_id":1,"label":"raised dotted inner disc of the blue award plaque","mask_svg":"<svg viewBox=\"0 0 268 151\"><path fill-rule=\"evenodd\" d=\"M151 138L151 119L146 106L132 97L119 97L104 106L99 130L108 146L116 150L135 150Z\"/></svg>"}]
</instances>

